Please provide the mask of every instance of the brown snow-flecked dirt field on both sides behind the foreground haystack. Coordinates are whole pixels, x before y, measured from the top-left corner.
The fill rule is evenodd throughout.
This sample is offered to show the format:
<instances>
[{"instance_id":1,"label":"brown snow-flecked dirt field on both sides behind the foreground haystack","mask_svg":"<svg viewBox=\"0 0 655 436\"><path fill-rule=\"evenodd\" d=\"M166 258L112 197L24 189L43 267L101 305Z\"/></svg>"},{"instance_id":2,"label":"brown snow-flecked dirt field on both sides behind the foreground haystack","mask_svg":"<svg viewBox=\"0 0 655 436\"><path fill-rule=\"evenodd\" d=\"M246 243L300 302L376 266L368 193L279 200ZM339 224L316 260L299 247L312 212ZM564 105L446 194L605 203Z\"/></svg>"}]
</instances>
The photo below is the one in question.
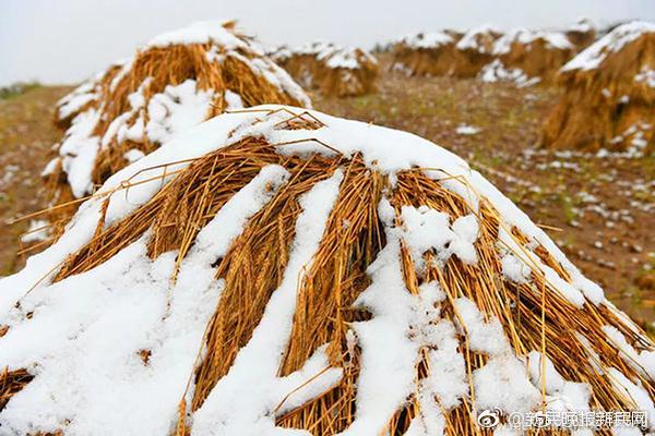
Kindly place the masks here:
<instances>
[{"instance_id":1,"label":"brown snow-flecked dirt field on both sides behind the foreground haystack","mask_svg":"<svg viewBox=\"0 0 655 436\"><path fill-rule=\"evenodd\" d=\"M541 122L556 88L517 89L449 77L407 77L381 65L379 90L314 95L335 116L403 129L467 159L547 232L583 272L645 327L655 320L655 158L596 158L544 150ZM53 104L68 88L41 87L0 100L0 218L43 208L38 174L59 140ZM480 131L456 133L466 123ZM8 173L13 175L8 177ZM8 179L8 181L5 181ZM0 274L15 270L27 222L0 227Z\"/></svg>"}]
</instances>

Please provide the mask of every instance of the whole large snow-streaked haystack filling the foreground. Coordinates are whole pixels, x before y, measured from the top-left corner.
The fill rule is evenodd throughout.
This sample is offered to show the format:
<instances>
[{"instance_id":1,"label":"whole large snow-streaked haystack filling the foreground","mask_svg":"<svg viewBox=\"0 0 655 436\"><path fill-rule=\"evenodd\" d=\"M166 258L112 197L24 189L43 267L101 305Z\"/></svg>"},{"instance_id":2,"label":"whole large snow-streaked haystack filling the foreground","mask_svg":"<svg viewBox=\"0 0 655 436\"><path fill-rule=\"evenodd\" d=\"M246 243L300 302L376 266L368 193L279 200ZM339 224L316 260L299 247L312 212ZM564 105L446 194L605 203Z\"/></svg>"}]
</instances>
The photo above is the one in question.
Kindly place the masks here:
<instances>
[{"instance_id":1,"label":"whole large snow-streaked haystack filling the foreground","mask_svg":"<svg viewBox=\"0 0 655 436\"><path fill-rule=\"evenodd\" d=\"M9 435L655 417L655 346L510 199L426 140L296 108L225 113L109 178L0 281L0 325Z\"/></svg>"}]
</instances>

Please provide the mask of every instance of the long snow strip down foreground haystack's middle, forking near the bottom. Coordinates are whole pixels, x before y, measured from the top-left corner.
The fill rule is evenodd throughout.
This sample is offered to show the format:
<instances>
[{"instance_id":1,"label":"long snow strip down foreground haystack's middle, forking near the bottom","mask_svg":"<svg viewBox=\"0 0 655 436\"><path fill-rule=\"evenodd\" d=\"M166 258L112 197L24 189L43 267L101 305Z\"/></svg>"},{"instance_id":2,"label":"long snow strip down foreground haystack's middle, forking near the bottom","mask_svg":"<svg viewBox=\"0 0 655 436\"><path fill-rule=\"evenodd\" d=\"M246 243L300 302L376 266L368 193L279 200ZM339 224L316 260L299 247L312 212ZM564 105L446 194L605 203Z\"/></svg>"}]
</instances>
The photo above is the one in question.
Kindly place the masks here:
<instances>
[{"instance_id":1,"label":"long snow strip down foreground haystack's middle, forking near the bottom","mask_svg":"<svg viewBox=\"0 0 655 436\"><path fill-rule=\"evenodd\" d=\"M297 373L282 378L276 374L291 332L298 283L319 247L342 180L343 173L337 170L300 198L302 213L296 221L296 239L282 283L271 295L248 344L239 351L227 375L195 412L192 435L269 434L266 432L275 426L271 411L289 391L319 375L298 392L302 403L341 379L337 368L321 374L329 367L324 348L320 348ZM291 398L291 401L296 404L297 399Z\"/></svg>"}]
</instances>

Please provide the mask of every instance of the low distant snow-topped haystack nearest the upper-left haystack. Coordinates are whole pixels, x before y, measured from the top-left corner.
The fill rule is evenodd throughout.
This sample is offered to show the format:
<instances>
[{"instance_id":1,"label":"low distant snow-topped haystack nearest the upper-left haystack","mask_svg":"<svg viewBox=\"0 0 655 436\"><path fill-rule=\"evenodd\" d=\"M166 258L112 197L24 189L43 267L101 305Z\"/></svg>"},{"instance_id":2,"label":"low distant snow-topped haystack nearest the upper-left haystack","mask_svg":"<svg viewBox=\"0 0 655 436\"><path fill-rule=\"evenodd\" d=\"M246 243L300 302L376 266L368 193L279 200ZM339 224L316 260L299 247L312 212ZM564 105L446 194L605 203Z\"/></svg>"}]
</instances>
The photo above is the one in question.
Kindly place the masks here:
<instances>
[{"instance_id":1,"label":"low distant snow-topped haystack nearest the upper-left haystack","mask_svg":"<svg viewBox=\"0 0 655 436\"><path fill-rule=\"evenodd\" d=\"M358 96L376 88L378 61L359 48L314 41L296 49L278 47L271 57L303 87L324 95Z\"/></svg>"}]
</instances>

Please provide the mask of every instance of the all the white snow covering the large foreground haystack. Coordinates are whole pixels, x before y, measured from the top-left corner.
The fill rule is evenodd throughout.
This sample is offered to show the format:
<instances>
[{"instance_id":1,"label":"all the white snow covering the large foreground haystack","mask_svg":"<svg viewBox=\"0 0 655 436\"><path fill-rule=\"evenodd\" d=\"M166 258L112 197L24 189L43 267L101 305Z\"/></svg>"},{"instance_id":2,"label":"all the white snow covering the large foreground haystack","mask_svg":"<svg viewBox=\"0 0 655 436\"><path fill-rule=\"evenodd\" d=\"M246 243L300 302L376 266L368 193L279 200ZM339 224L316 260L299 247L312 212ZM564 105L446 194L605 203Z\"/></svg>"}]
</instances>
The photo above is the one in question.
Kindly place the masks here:
<instances>
[{"instance_id":1,"label":"all the white snow covering the large foreground haystack","mask_svg":"<svg viewBox=\"0 0 655 436\"><path fill-rule=\"evenodd\" d=\"M111 226L156 195L171 175L133 185L129 192L119 190L126 180L138 183L170 174L190 165L189 159L247 135L269 141L283 155L360 154L370 169L389 177L402 170L432 168L424 173L440 180L469 204L466 215L452 217L426 206L404 206L396 214L388 198L380 201L378 210L386 244L368 267L371 282L355 303L372 317L352 323L347 336L348 347L360 350L361 366L355 421L344 435L380 434L415 391L420 414L412 422L409 434L419 436L439 434L445 426L444 413L474 396L476 412L493 408L528 411L540 404L540 354L533 351L528 356L515 355L500 320L469 299L454 299L454 322L442 318L440 304L446 294L437 281L422 282L414 294L406 288L402 244L412 254L419 275L426 252L434 254L437 267L453 255L475 267L478 202L484 197L498 210L497 249L508 279L532 281L532 268L525 265L534 265L549 288L573 304L605 304L612 310L602 289L584 278L511 201L444 148L409 133L313 110L308 112L325 126L284 130L281 122L290 116L281 109L267 105L225 113L176 135L109 178L96 196L80 207L52 246L32 256L19 274L0 280L0 319L10 327L0 338L0 367L25 367L35 375L0 412L2 428L10 434L63 428L73 436L171 433L179 400L193 390L193 386L186 390L187 382L190 377L192 380L196 356L202 355L204 329L224 287L212 265L227 253L249 218L284 189L288 172L279 166L265 167L235 194L200 230L179 265L175 283L170 277L177 253L151 261L145 255L148 232L87 272L57 283L51 283L51 278L69 254L93 238L106 198L110 198L106 226ZM289 144L291 141L299 142ZM177 164L166 167L169 162ZM342 180L342 170L336 170L300 197L302 211L296 221L282 282L227 375L190 416L192 435L294 434L275 427L276 416L317 398L341 380L342 370L330 367L325 346L288 376L279 376L278 366L288 344L299 283L311 267ZM527 246L520 246L512 238L512 227L526 235ZM571 283L540 263L533 252L538 245L562 265L572 277ZM29 312L32 319L25 316ZM638 353L612 330L606 334L622 355L639 359L640 366L652 374L652 352ZM151 351L147 365L139 356L140 350ZM419 350L426 350L431 373L417 382ZM467 351L488 358L484 366L473 371L471 386L464 360ZM548 407L584 409L588 387L563 379L551 363L545 364ZM612 371L622 376L616 370L610 374ZM644 388L619 376L614 380L621 389L630 392L640 408L652 411Z\"/></svg>"}]
</instances>

